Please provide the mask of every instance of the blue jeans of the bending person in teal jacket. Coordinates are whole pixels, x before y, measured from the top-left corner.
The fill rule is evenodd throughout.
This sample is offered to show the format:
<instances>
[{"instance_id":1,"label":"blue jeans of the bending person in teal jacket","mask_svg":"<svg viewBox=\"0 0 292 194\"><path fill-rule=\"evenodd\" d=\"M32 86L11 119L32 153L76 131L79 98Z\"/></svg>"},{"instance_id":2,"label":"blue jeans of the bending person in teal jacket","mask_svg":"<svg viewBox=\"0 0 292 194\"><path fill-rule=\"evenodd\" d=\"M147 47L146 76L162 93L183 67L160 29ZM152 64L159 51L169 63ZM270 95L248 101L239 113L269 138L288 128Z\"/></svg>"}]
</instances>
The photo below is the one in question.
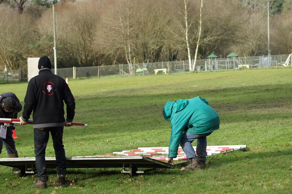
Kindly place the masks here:
<instances>
[{"instance_id":1,"label":"blue jeans of the bending person in teal jacket","mask_svg":"<svg viewBox=\"0 0 292 194\"><path fill-rule=\"evenodd\" d=\"M180 140L180 146L182 146L183 152L185 152L186 157L197 158L198 160L206 161L207 156L207 136L212 132L203 133L203 134L192 134L184 132L182 135L182 139ZM197 150L195 152L192 142L197 139ZM197 155L196 155L197 154Z\"/></svg>"}]
</instances>

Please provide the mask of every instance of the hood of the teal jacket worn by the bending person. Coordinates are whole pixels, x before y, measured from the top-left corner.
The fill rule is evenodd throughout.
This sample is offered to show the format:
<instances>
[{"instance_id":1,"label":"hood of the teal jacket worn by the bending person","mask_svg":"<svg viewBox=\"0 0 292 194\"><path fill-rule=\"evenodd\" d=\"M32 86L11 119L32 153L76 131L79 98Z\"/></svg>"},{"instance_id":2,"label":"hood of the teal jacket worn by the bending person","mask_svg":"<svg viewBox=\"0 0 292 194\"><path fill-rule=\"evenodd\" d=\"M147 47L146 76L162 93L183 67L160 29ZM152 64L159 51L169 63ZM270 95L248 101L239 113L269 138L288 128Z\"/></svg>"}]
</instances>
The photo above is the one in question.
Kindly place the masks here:
<instances>
[{"instance_id":1,"label":"hood of the teal jacket worn by the bending person","mask_svg":"<svg viewBox=\"0 0 292 194\"><path fill-rule=\"evenodd\" d=\"M178 99L177 101L167 101L163 108L163 116L166 120L170 120L172 113L177 113L189 104L188 100Z\"/></svg>"}]
</instances>

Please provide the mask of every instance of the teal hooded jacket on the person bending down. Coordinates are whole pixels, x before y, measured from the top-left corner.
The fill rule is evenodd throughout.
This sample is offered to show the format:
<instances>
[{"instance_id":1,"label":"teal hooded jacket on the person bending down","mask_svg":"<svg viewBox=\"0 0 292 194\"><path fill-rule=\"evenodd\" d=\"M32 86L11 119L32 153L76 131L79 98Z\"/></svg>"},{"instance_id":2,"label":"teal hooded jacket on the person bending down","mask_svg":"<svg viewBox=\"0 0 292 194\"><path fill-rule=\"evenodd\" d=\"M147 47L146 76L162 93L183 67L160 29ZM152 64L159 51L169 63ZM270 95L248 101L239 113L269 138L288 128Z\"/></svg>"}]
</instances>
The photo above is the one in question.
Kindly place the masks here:
<instances>
[{"instance_id":1,"label":"teal hooded jacket on the person bending down","mask_svg":"<svg viewBox=\"0 0 292 194\"><path fill-rule=\"evenodd\" d=\"M206 99L195 97L188 100L167 101L163 116L170 120L171 136L169 158L176 158L183 132L192 134L209 133L219 129L218 113L209 106Z\"/></svg>"}]
</instances>

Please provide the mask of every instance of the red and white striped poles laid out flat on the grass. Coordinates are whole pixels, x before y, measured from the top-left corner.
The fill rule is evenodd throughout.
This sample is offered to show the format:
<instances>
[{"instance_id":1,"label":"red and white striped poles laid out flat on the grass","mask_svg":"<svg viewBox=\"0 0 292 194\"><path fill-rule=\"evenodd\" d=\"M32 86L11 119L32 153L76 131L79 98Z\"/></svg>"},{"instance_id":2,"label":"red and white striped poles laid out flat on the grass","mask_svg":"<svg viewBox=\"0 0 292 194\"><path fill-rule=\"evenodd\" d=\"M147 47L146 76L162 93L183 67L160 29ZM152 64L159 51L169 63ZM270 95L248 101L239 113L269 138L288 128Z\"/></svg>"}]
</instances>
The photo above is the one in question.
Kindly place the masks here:
<instances>
[{"instance_id":1,"label":"red and white striped poles laid out flat on the grass","mask_svg":"<svg viewBox=\"0 0 292 194\"><path fill-rule=\"evenodd\" d=\"M196 146L193 146L193 148L196 150ZM207 156L211 156L215 154L226 153L244 148L246 148L246 145L207 146L206 151ZM177 153L178 153L177 157L173 158L173 160L188 160L186 158L185 153L182 150L182 147L179 147ZM141 147L138 149L123 150L122 152L108 153L106 155L125 155L125 156L143 155L145 157L163 161L168 160L168 147Z\"/></svg>"}]
</instances>

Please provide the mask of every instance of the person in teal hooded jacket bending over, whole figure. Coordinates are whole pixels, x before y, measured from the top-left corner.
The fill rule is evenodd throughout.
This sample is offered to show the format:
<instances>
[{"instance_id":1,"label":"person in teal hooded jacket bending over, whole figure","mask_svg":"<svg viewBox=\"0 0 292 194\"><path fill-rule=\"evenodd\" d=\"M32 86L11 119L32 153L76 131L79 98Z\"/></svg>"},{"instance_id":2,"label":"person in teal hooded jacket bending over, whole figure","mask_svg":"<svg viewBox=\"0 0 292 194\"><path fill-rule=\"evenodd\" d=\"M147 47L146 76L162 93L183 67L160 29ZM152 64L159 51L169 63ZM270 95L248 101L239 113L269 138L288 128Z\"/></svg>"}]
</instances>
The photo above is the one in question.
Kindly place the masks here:
<instances>
[{"instance_id":1,"label":"person in teal hooded jacket bending over, whole figure","mask_svg":"<svg viewBox=\"0 0 292 194\"><path fill-rule=\"evenodd\" d=\"M163 108L163 116L170 120L171 125L167 163L173 164L180 144L190 161L188 166L181 168L182 171L205 167L207 136L219 129L218 113L209 106L206 99L198 96L187 100L167 101ZM192 147L195 139L196 152Z\"/></svg>"}]
</instances>

